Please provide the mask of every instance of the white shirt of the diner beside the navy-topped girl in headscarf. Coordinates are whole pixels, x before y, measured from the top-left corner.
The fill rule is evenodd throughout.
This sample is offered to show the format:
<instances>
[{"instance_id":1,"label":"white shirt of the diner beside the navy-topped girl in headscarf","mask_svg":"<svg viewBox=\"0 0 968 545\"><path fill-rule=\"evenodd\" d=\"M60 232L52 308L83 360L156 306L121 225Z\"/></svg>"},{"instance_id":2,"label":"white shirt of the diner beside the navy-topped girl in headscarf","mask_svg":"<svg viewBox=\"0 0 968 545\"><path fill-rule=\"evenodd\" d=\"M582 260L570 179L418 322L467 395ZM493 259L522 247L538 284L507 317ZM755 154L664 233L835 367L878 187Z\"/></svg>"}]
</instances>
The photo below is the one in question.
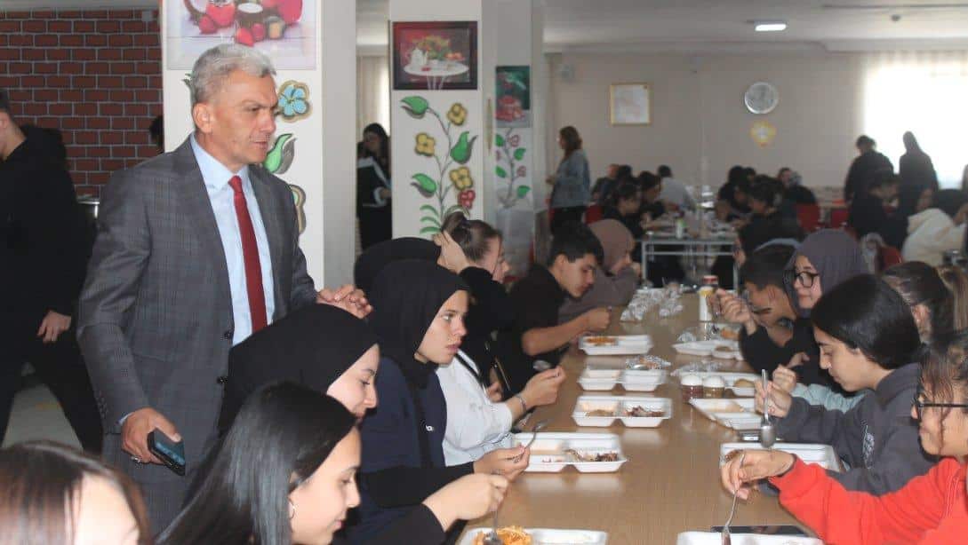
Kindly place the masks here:
<instances>
[{"instance_id":1,"label":"white shirt of the diner beside the navy-topped girl in headscarf","mask_svg":"<svg viewBox=\"0 0 968 545\"><path fill-rule=\"evenodd\" d=\"M475 370L477 364L458 352ZM448 466L473 462L497 448L511 446L511 410L491 401L484 387L457 358L437 369L440 389L447 402L447 429L443 435L443 460Z\"/></svg>"}]
</instances>

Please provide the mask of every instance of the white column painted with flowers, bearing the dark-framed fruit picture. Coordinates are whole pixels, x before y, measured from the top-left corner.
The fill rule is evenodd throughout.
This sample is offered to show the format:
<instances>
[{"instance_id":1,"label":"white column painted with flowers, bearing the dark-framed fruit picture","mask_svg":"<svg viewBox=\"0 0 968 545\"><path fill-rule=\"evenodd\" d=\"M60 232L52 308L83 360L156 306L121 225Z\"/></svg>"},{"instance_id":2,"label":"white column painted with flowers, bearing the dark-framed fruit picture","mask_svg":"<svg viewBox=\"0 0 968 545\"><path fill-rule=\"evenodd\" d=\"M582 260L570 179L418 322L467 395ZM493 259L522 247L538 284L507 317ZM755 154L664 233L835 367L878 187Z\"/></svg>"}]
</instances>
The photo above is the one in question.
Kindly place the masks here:
<instances>
[{"instance_id":1,"label":"white column painted with flowers, bearing the dark-framed fruit picture","mask_svg":"<svg viewBox=\"0 0 968 545\"><path fill-rule=\"evenodd\" d=\"M393 236L430 237L449 212L464 205L482 217L488 124L484 56L488 47L482 5L487 0L390 0L390 126ZM393 23L474 21L477 87L469 90L395 90ZM410 53L411 47L401 51ZM409 62L405 63L409 64ZM416 63L414 63L414 66ZM424 65L428 71L429 64ZM432 73L432 72L429 72ZM439 78L430 78L433 83ZM493 77L491 79L493 81ZM448 115L448 113L450 115ZM459 147L458 158L451 150ZM469 152L469 155L468 155ZM459 160L458 160L459 159ZM464 199L460 199L461 196ZM473 201L469 197L473 196Z\"/></svg>"}]
</instances>

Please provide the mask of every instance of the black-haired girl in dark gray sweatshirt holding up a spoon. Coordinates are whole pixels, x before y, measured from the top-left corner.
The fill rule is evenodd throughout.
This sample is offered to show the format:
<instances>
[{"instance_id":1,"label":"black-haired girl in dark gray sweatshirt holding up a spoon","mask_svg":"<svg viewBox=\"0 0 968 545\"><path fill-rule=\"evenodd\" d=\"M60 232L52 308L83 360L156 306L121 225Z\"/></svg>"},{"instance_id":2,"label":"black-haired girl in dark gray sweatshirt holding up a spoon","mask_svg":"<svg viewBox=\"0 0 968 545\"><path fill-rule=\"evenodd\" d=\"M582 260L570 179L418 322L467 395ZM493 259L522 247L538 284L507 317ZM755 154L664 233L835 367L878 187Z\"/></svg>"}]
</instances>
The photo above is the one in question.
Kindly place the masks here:
<instances>
[{"instance_id":1,"label":"black-haired girl in dark gray sweatshirt holding up a spoon","mask_svg":"<svg viewBox=\"0 0 968 545\"><path fill-rule=\"evenodd\" d=\"M820 366L846 391L873 392L842 412L757 384L757 410L769 396L779 437L832 445L850 469L830 475L848 490L886 494L927 472L934 460L919 447L908 416L923 344L907 303L884 280L863 274L825 294L812 319Z\"/></svg>"}]
</instances>

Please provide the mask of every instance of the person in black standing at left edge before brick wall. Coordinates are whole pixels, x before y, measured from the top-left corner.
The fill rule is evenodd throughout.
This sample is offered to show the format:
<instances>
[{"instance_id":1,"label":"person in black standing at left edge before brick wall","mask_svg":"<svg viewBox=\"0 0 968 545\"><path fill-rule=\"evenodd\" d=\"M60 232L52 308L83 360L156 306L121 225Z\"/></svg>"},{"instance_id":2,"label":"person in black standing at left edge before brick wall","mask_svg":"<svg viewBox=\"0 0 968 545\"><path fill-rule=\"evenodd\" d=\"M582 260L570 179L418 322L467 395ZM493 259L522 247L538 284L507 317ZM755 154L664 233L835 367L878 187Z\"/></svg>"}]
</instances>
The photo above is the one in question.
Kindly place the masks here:
<instances>
[{"instance_id":1,"label":"person in black standing at left edge before brick wall","mask_svg":"<svg viewBox=\"0 0 968 545\"><path fill-rule=\"evenodd\" d=\"M88 241L59 131L16 126L0 90L0 443L30 362L85 450L101 419L75 339Z\"/></svg>"}]
</instances>

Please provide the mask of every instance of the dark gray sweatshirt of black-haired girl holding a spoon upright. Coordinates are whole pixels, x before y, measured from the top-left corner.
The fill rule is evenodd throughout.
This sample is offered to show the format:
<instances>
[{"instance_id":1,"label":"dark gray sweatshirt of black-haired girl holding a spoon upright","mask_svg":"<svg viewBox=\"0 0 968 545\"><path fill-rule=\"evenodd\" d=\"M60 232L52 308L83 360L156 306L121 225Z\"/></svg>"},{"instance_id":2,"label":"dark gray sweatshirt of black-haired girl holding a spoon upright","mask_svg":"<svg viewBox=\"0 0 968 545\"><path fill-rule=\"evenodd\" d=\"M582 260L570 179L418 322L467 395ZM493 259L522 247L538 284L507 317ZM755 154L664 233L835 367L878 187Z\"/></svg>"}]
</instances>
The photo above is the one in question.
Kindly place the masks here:
<instances>
[{"instance_id":1,"label":"dark gray sweatshirt of black-haired girl holding a spoon upright","mask_svg":"<svg viewBox=\"0 0 968 545\"><path fill-rule=\"evenodd\" d=\"M937 462L922 450L918 422L911 418L919 373L917 363L894 370L846 413L795 397L776 431L784 441L832 445L853 468L828 472L847 490L876 496L893 492Z\"/></svg>"}]
</instances>

